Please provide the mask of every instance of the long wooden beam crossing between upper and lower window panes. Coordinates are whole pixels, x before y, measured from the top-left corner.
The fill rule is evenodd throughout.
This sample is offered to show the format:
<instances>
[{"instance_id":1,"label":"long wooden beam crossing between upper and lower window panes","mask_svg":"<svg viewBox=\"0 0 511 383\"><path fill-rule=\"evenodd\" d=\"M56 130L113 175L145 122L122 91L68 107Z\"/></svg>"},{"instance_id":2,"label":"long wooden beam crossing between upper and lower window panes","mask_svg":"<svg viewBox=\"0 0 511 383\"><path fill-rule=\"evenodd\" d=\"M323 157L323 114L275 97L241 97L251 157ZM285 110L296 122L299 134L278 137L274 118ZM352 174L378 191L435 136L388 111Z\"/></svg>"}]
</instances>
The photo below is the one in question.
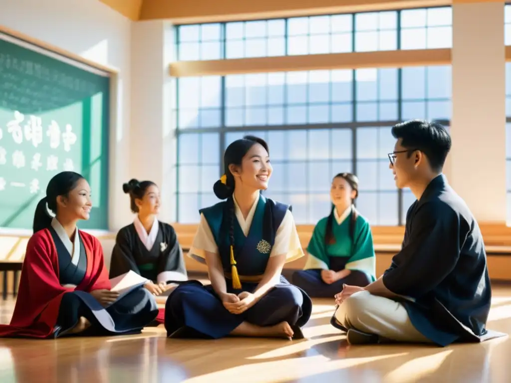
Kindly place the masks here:
<instances>
[{"instance_id":1,"label":"long wooden beam crossing between upper and lower window panes","mask_svg":"<svg viewBox=\"0 0 511 383\"><path fill-rule=\"evenodd\" d=\"M173 77L225 76L316 69L397 68L403 66L450 65L451 49L380 51L258 57L249 59L176 61L170 64Z\"/></svg>"}]
</instances>

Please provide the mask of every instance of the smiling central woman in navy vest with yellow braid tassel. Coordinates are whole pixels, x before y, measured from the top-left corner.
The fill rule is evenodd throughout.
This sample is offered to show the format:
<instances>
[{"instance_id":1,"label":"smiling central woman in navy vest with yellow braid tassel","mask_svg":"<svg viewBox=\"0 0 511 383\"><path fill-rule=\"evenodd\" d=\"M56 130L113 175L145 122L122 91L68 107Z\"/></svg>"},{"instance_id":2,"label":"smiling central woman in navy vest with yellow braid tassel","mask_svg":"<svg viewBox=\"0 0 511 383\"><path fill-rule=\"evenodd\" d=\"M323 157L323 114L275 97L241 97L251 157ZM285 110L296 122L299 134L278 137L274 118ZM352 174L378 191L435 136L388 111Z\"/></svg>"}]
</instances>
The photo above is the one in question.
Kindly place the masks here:
<instances>
[{"instance_id":1,"label":"smiling central woman in navy vest with yellow braid tassel","mask_svg":"<svg viewBox=\"0 0 511 383\"><path fill-rule=\"evenodd\" d=\"M303 338L309 296L282 275L304 255L291 207L261 195L272 167L268 146L245 136L224 154L225 174L213 190L224 200L200 210L189 256L207 265L211 285L179 285L165 308L172 338Z\"/></svg>"}]
</instances>

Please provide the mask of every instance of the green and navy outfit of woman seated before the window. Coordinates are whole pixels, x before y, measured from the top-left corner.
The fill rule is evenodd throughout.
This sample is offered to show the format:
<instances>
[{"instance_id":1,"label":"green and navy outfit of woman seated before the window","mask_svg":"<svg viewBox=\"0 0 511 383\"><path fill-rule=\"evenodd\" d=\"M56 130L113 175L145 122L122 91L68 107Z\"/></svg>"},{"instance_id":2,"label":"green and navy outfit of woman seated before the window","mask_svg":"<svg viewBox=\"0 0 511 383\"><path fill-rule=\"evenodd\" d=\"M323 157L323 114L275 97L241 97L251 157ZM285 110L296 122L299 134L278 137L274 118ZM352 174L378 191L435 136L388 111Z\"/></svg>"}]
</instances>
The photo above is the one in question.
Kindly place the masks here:
<instances>
[{"instance_id":1,"label":"green and navy outfit of woman seated before the window","mask_svg":"<svg viewBox=\"0 0 511 383\"><path fill-rule=\"evenodd\" d=\"M352 206L340 216L334 209L333 243L326 244L324 239L329 217L321 219L314 228L307 247L309 257L305 270L295 272L292 278L293 283L311 297L333 298L344 283L363 287L376 280L376 257L369 223L360 214L353 214ZM351 273L331 284L321 278L321 270L344 269Z\"/></svg>"}]
</instances>

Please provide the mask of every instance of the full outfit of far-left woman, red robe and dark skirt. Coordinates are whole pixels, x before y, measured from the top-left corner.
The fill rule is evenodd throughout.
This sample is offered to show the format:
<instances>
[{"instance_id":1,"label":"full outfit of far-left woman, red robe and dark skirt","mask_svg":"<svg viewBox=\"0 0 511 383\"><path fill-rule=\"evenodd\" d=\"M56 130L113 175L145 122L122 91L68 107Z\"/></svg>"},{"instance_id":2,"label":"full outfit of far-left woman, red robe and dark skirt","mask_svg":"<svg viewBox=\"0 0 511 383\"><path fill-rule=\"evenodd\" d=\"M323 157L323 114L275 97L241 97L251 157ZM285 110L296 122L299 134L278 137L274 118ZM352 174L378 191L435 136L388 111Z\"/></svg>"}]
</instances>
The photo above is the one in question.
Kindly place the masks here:
<instances>
[{"instance_id":1,"label":"full outfit of far-left woman, red robe and dark skirt","mask_svg":"<svg viewBox=\"0 0 511 383\"><path fill-rule=\"evenodd\" d=\"M9 325L0 325L0 336L57 338L80 317L91 323L82 335L138 333L158 314L154 297L142 286L107 307L90 294L101 289L111 285L98 239L77 229L72 243L53 219L29 240L14 314Z\"/></svg>"}]
</instances>

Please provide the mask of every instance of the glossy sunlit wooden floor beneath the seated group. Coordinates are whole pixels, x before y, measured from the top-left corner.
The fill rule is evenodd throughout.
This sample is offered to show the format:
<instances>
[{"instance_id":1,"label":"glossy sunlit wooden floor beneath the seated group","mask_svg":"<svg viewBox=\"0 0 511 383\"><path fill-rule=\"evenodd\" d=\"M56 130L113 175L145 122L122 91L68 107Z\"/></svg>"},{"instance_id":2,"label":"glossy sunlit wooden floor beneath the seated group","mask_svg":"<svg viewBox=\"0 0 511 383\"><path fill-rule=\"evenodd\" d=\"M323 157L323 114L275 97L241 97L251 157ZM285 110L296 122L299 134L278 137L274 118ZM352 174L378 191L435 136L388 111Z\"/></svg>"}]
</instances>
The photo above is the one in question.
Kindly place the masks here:
<instances>
[{"instance_id":1,"label":"glossy sunlit wooden floor beneath the seated group","mask_svg":"<svg viewBox=\"0 0 511 383\"><path fill-rule=\"evenodd\" d=\"M489 327L511 333L511 287L494 288ZM8 323L14 301L0 302ZM507 383L511 340L446 348L349 346L329 324L333 301L317 300L308 339L170 340L153 327L137 336L0 340L2 383L357 382ZM508 376L506 378L506 376Z\"/></svg>"}]
</instances>

